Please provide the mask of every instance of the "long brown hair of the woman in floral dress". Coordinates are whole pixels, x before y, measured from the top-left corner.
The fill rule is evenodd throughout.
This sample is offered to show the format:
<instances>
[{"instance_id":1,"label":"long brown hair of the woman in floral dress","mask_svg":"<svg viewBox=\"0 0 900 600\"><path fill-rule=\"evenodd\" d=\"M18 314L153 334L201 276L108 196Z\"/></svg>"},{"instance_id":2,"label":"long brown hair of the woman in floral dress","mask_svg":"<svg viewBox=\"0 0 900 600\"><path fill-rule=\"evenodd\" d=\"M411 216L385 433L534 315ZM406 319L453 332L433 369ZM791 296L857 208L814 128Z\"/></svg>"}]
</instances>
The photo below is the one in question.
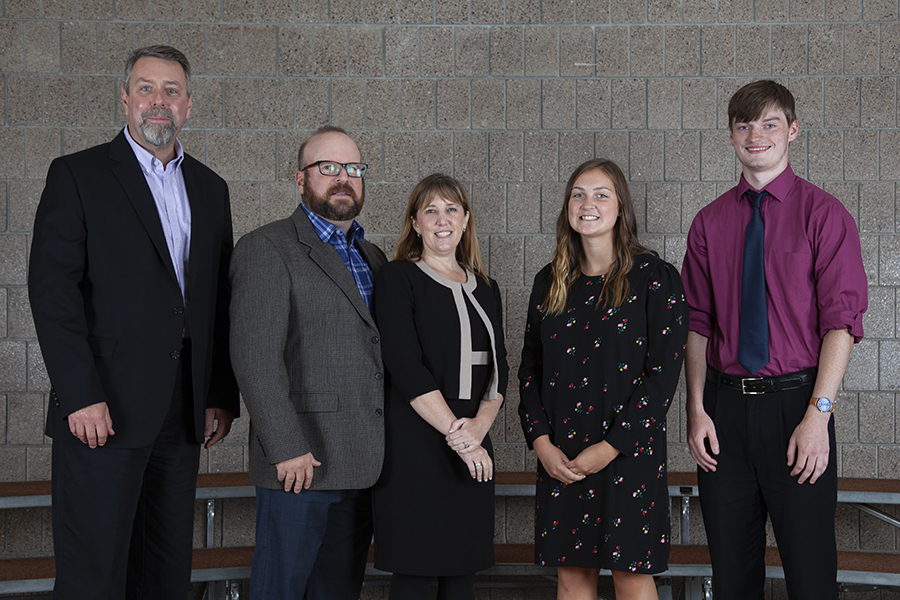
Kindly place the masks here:
<instances>
[{"instance_id":1,"label":"long brown hair of the woman in floral dress","mask_svg":"<svg viewBox=\"0 0 900 600\"><path fill-rule=\"evenodd\" d=\"M575 181L584 173L593 170L602 171L609 177L616 189L619 199L619 216L613 227L613 250L615 261L607 274L600 294L598 306L604 304L619 306L628 295L628 272L634 263L634 256L644 252L656 254L642 246L637 239L637 218L634 216L634 202L628 190L628 180L622 169L606 158L593 158L579 165L566 183L566 196L562 209L556 218L556 251L553 253L553 281L547 298L544 300L544 311L558 315L565 310L569 287L581 275L584 247L581 236L569 225L569 198Z\"/></svg>"}]
</instances>

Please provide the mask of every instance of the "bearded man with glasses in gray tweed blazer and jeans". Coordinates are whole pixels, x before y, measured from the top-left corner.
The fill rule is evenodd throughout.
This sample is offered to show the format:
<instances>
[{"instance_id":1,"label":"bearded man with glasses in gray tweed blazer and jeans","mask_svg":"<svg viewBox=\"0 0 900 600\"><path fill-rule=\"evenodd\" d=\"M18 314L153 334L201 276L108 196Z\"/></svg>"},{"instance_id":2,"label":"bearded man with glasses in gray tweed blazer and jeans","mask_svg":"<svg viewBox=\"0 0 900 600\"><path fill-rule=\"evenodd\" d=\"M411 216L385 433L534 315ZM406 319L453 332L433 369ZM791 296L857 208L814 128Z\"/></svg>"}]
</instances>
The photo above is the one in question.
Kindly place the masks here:
<instances>
[{"instance_id":1,"label":"bearded man with glasses in gray tweed blazer and jeans","mask_svg":"<svg viewBox=\"0 0 900 600\"><path fill-rule=\"evenodd\" d=\"M384 456L370 307L386 259L354 220L366 165L347 133L320 128L298 161L303 203L242 237L231 260L231 361L257 486L250 595L356 600Z\"/></svg>"}]
</instances>

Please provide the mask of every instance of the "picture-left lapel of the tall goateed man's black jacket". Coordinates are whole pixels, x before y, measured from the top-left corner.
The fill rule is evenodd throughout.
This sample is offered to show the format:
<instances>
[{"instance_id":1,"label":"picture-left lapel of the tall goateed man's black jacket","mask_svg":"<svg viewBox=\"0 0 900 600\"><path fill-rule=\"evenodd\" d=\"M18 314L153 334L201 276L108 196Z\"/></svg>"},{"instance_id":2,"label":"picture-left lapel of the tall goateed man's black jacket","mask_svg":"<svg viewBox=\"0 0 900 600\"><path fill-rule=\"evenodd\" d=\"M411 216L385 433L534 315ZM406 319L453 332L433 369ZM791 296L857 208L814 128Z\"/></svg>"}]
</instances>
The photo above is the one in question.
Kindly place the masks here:
<instances>
[{"instance_id":1,"label":"picture-left lapel of the tall goateed man's black jacket","mask_svg":"<svg viewBox=\"0 0 900 600\"><path fill-rule=\"evenodd\" d=\"M125 190L125 195L128 196L144 229L147 230L147 235L150 236L160 260L166 265L167 272L177 283L175 268L172 266L172 258L169 256L169 247L166 245L166 237L162 230L162 224L159 222L156 202L153 200L153 194L150 193L150 187L141 172L141 164L135 157L131 146L128 145L124 132L120 131L119 135L113 138L109 147L109 157L116 163L112 167L113 174L119 180L122 189Z\"/></svg>"}]
</instances>

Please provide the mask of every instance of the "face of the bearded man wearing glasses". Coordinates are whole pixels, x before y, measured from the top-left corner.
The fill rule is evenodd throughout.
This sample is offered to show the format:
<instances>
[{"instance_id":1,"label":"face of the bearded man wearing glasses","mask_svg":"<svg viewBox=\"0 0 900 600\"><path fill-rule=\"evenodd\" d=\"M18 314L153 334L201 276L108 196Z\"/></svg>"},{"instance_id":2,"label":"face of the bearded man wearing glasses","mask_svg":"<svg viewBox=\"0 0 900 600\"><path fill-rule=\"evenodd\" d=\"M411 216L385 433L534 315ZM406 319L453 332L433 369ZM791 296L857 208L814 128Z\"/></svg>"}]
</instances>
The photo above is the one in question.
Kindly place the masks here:
<instances>
[{"instance_id":1,"label":"face of the bearded man wearing glasses","mask_svg":"<svg viewBox=\"0 0 900 600\"><path fill-rule=\"evenodd\" d=\"M336 131L320 133L306 144L301 157L303 165L320 160L342 164L360 162L359 148L349 136ZM346 227L360 213L365 202L365 186L361 177L349 177L342 168L336 177L322 175L317 166L297 171L297 189L307 208L330 223Z\"/></svg>"}]
</instances>

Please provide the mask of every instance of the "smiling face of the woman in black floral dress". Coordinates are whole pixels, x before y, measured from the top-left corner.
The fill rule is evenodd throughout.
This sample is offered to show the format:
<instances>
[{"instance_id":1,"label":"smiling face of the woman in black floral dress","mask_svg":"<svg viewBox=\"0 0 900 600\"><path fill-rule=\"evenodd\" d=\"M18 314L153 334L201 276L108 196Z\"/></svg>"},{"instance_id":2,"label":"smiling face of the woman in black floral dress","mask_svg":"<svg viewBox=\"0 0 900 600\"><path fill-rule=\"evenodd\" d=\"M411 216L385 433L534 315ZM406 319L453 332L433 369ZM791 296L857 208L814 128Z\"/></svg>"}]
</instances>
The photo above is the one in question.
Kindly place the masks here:
<instances>
[{"instance_id":1,"label":"smiling face of the woman in black floral dress","mask_svg":"<svg viewBox=\"0 0 900 600\"><path fill-rule=\"evenodd\" d=\"M619 197L605 172L592 169L579 175L568 203L569 226L582 239L612 236L619 218Z\"/></svg>"}]
</instances>

